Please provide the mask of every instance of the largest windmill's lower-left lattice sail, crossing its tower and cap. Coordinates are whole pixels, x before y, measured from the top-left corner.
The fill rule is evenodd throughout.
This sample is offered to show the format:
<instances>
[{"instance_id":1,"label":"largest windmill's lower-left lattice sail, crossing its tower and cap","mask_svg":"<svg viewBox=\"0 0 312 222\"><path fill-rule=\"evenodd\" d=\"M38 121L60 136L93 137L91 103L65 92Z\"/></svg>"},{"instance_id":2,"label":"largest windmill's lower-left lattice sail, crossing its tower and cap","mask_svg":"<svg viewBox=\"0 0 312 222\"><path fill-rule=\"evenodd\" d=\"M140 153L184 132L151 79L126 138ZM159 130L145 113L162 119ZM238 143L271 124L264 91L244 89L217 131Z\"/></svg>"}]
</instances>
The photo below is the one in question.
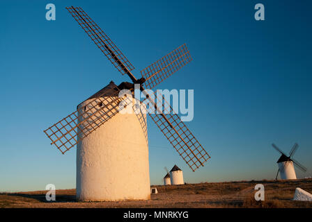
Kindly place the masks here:
<instances>
[{"instance_id":1,"label":"largest windmill's lower-left lattice sail, crossing its tower and cap","mask_svg":"<svg viewBox=\"0 0 312 222\"><path fill-rule=\"evenodd\" d=\"M120 102L125 106L132 103L127 96L118 97L119 92L120 89L116 87L109 89L97 98L90 99L86 105L79 105L75 112L44 130L51 144L64 154L122 110L124 106L119 105Z\"/></svg>"}]
</instances>

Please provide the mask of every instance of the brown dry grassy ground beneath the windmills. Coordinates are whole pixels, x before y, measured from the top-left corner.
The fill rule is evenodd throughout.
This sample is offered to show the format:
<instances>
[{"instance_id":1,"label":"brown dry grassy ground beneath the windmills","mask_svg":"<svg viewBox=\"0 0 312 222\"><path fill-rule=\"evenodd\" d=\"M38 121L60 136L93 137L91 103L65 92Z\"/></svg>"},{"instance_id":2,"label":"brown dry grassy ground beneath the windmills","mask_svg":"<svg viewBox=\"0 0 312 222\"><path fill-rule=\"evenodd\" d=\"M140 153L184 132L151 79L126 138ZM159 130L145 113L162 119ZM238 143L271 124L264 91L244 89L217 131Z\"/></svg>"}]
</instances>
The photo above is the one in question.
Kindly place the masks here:
<instances>
[{"instance_id":1,"label":"brown dry grassy ground beneath the windmills","mask_svg":"<svg viewBox=\"0 0 312 222\"><path fill-rule=\"evenodd\" d=\"M265 186L265 200L253 196L256 184ZM312 202L291 200L295 188L312 193L312 179L205 182L187 185L152 186L158 194L150 200L79 202L75 189L56 190L56 201L45 200L47 191L0 193L0 207L312 207Z\"/></svg>"}]
</instances>

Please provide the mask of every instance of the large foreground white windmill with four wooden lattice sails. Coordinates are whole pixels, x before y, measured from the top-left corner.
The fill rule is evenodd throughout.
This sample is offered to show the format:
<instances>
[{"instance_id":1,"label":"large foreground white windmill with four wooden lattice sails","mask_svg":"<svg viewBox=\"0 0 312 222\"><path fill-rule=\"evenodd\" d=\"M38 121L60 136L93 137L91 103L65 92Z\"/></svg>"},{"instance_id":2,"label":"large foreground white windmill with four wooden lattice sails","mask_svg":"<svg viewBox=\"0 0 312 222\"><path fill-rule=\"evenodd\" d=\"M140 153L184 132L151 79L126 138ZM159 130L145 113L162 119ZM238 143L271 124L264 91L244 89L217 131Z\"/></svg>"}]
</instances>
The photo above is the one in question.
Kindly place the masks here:
<instances>
[{"instance_id":1,"label":"large foreground white windmill with four wooden lattice sails","mask_svg":"<svg viewBox=\"0 0 312 222\"><path fill-rule=\"evenodd\" d=\"M210 155L199 144L185 123L180 120L171 105L164 100L164 96L159 98L159 95L148 94L144 90L153 89L192 60L186 44L143 69L141 78L137 79L132 74L134 67L129 60L82 8L70 6L66 9L114 67L122 75L126 74L132 80L132 83L123 82L120 85L111 82L107 87L80 103L75 112L44 130L47 137L51 139L51 144L54 144L63 154L77 145L77 197L81 200L98 200L96 196L102 195L101 189L104 187L107 196L102 196L100 200L149 198L150 182L148 151L146 151L148 145L144 144L141 139L143 134L136 128L137 122L139 122L146 137L146 116L142 112L135 112L139 121L134 121L132 117L126 118L125 115L121 117L122 115L119 113L123 108L129 108L128 105L132 102L132 99L127 99L126 95L120 98L120 92L123 89L130 89L131 92L134 92L135 84L140 84L139 89L146 96L146 99L140 103L145 104L147 101L153 105L155 110L159 111L160 114L149 113L149 115L182 159L192 171L203 166ZM159 99L165 103L157 106L151 99L153 96L157 98L157 101ZM120 103L123 104L121 107ZM136 109L136 106L132 106L132 108ZM126 137L131 138L128 143L123 142ZM132 148L135 149L138 146L141 148L140 150L132 151ZM132 165L140 163L143 165ZM132 179L129 176L129 181L126 180L127 173L120 173L125 170L131 174ZM132 171L130 172L130 170ZM117 180L116 177L119 179ZM139 182L134 183L132 180ZM91 181L93 181L92 184ZM125 186L125 182L127 182L127 186ZM119 188L117 183L120 184ZM139 183L143 184L146 196L140 196L137 193L140 190L142 193L143 190L142 187L137 187ZM118 196L122 189L127 189L128 193ZM116 195L109 196L110 194Z\"/></svg>"}]
</instances>

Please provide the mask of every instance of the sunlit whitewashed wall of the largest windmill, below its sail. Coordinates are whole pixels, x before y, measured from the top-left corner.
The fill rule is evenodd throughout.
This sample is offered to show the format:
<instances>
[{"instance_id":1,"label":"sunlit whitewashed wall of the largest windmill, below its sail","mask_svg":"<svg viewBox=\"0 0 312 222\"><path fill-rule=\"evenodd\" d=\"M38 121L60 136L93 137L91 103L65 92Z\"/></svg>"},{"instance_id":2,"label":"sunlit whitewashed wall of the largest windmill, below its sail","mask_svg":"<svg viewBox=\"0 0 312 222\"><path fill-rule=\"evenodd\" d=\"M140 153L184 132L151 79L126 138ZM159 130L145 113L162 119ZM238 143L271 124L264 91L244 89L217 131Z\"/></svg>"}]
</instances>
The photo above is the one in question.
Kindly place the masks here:
<instances>
[{"instance_id":1,"label":"sunlit whitewashed wall of the largest windmill, below its sail","mask_svg":"<svg viewBox=\"0 0 312 222\"><path fill-rule=\"evenodd\" d=\"M77 198L150 199L148 144L136 114L116 114L77 144Z\"/></svg>"}]
</instances>

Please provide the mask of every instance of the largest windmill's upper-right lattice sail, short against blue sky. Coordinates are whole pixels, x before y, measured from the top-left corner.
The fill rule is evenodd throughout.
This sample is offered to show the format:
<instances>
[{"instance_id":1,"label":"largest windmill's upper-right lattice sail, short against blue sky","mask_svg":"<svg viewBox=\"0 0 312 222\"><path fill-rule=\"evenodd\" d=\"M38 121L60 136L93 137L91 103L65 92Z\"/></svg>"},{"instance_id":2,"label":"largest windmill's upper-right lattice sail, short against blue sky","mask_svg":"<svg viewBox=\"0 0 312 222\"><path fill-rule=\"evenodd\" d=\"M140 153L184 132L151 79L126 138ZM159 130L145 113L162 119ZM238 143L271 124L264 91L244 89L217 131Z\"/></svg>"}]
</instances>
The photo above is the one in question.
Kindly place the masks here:
<instances>
[{"instance_id":1,"label":"largest windmill's upper-right lattice sail, short against blue sky","mask_svg":"<svg viewBox=\"0 0 312 222\"><path fill-rule=\"evenodd\" d=\"M191 61L192 57L189 54L187 45L182 44L182 46L141 70L141 76L146 79L143 86L148 89L153 89L156 85L162 83L163 80Z\"/></svg>"}]
</instances>

